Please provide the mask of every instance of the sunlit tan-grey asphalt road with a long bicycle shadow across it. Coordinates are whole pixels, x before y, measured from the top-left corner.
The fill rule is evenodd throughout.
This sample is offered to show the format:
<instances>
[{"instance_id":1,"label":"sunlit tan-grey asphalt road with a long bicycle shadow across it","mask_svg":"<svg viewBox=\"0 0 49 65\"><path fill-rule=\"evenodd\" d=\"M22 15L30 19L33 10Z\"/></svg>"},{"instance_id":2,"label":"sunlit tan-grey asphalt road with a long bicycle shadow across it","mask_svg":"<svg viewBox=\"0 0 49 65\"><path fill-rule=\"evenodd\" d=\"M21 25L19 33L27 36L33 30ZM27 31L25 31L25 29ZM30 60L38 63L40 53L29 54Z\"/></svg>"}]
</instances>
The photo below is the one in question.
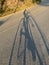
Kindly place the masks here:
<instances>
[{"instance_id":1,"label":"sunlit tan-grey asphalt road with a long bicycle shadow across it","mask_svg":"<svg viewBox=\"0 0 49 65\"><path fill-rule=\"evenodd\" d=\"M0 65L49 65L49 6L27 11L0 19Z\"/></svg>"}]
</instances>

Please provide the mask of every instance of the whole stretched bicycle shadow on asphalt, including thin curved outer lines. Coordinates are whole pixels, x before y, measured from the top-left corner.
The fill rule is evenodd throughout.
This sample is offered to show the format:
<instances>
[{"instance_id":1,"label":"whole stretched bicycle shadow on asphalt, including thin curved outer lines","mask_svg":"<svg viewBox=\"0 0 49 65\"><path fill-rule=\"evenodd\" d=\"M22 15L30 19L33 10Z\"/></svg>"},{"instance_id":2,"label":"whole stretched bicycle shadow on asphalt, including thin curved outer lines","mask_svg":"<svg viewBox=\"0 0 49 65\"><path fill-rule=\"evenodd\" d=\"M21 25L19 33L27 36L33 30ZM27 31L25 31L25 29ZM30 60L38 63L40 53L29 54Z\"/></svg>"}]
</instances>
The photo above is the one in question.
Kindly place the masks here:
<instances>
[{"instance_id":1,"label":"whole stretched bicycle shadow on asphalt, including thin curved outer lines","mask_svg":"<svg viewBox=\"0 0 49 65\"><path fill-rule=\"evenodd\" d=\"M27 62L26 61L26 54L27 54L26 53L26 48L31 52L32 61L33 62L36 62L37 57L38 57L39 65L44 65L43 64L43 59L41 58L41 56L39 54L39 51L37 49L36 43L35 43L33 35L32 35L32 30L31 30L31 27L30 27L30 24L29 24L29 20L30 20L29 16L28 16L28 14L27 14L27 12L25 10L24 11L24 18L21 19L21 21L20 21L20 23L18 25L17 32L15 34L15 38L14 38L14 42L13 42L13 46L12 46L12 50L11 50L11 54L10 54L9 64L8 65L11 65L11 63L12 63L12 57L13 57L13 51L14 51L15 44L18 44L18 50L16 51L17 52L17 56L16 56L17 58L16 59L18 61L17 65L26 65L26 62ZM35 21L34 18L32 18L32 20ZM21 26L21 22L22 22L22 26ZM31 24L32 24L32 26L34 26L33 22ZM37 26L37 24L36 24L36 26ZM37 26L37 28L38 28L38 26ZM41 33L41 30L39 28L38 28L38 30L39 30L39 32L41 34L41 37L44 40L45 47L48 48L47 44L45 42L44 36ZM18 32L20 33L19 34L20 38L19 38L19 43L16 43ZM25 37L25 39L24 39L24 42L22 43L23 36ZM23 47L23 50L21 50L23 44L24 44L24 47ZM29 64L29 65L31 65L31 64Z\"/></svg>"}]
</instances>

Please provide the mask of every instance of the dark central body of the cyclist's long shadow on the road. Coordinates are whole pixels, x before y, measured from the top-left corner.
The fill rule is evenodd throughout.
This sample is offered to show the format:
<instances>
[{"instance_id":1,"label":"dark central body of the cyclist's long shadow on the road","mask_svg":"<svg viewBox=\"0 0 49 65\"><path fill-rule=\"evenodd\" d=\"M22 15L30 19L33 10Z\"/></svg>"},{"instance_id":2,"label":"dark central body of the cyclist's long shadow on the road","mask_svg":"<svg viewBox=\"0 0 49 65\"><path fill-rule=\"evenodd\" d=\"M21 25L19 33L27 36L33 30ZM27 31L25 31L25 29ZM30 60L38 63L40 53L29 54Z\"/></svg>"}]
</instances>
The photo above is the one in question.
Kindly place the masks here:
<instances>
[{"instance_id":1,"label":"dark central body of the cyclist's long shadow on the road","mask_svg":"<svg viewBox=\"0 0 49 65\"><path fill-rule=\"evenodd\" d=\"M29 26L28 19L29 19L29 17L27 17L26 14L24 14L23 28L24 28L25 32L23 31L23 28L20 30L20 42L19 42L19 47L18 47L17 58L20 58L20 56L24 54L23 65L26 65L26 48L27 48L29 51L31 51L32 60L35 62L37 60L36 59L36 56L37 56L38 60L39 60L39 64L43 65L43 61L40 57L39 51L37 50L36 44L35 44L33 36L32 36L32 32L31 32L31 29ZM29 32L29 30L30 30L30 32ZM19 53L22 35L25 36L24 50L21 53Z\"/></svg>"}]
</instances>

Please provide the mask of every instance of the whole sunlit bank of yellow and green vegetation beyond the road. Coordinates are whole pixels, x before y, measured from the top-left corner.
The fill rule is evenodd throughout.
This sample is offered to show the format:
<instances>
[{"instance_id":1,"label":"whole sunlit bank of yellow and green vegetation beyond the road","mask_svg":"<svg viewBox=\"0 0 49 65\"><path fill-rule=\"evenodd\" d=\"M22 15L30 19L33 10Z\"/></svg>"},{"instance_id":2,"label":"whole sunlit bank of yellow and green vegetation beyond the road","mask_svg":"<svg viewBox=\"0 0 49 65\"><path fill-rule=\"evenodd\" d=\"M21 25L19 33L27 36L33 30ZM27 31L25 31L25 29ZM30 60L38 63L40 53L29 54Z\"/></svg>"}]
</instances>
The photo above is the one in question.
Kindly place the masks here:
<instances>
[{"instance_id":1,"label":"whole sunlit bank of yellow and green vegetation beyond the road","mask_svg":"<svg viewBox=\"0 0 49 65\"><path fill-rule=\"evenodd\" d=\"M40 3L41 0L0 0L0 16L8 15Z\"/></svg>"}]
</instances>

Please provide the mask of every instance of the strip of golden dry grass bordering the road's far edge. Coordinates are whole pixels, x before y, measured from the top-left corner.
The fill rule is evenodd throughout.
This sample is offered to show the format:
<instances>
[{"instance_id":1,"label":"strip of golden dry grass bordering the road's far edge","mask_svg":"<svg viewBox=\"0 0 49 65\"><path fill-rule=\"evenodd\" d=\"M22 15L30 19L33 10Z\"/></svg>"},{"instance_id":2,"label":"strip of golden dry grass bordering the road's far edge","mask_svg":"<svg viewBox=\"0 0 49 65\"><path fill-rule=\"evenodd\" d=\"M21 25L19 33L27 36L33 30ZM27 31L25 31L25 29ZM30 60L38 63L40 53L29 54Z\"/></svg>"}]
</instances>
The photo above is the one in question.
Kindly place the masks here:
<instances>
[{"instance_id":1,"label":"strip of golden dry grass bordering the road's far edge","mask_svg":"<svg viewBox=\"0 0 49 65\"><path fill-rule=\"evenodd\" d=\"M35 4L35 3L34 3ZM3 17L3 16L6 16L6 15L9 15L9 14L12 14L14 12L18 12L18 11L21 11L21 10L24 10L28 7L31 7L31 6L34 6L34 4L32 2L30 2L28 0L27 3L25 4L21 4L19 3L18 7L17 8L13 8L13 9L7 9L5 10L4 12L0 12L0 17ZM16 7L16 6L15 6Z\"/></svg>"}]
</instances>

